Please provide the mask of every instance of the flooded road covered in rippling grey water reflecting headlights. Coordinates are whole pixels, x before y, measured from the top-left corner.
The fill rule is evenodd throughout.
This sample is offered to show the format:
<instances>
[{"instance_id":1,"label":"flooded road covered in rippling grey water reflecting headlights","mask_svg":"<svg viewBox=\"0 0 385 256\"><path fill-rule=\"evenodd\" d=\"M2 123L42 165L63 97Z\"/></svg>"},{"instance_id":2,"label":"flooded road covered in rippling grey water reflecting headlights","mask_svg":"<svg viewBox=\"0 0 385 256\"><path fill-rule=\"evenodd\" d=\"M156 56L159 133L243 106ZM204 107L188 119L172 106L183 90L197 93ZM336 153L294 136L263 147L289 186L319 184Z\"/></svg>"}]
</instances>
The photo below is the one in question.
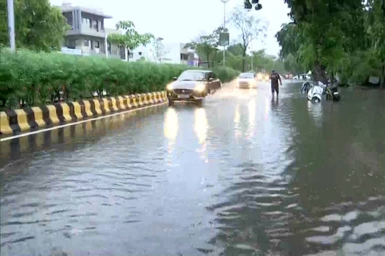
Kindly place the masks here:
<instances>
[{"instance_id":1,"label":"flooded road covered in rippling grey water reflecting headlights","mask_svg":"<svg viewBox=\"0 0 385 256\"><path fill-rule=\"evenodd\" d=\"M385 93L300 85L1 142L1 255L384 255Z\"/></svg>"}]
</instances>

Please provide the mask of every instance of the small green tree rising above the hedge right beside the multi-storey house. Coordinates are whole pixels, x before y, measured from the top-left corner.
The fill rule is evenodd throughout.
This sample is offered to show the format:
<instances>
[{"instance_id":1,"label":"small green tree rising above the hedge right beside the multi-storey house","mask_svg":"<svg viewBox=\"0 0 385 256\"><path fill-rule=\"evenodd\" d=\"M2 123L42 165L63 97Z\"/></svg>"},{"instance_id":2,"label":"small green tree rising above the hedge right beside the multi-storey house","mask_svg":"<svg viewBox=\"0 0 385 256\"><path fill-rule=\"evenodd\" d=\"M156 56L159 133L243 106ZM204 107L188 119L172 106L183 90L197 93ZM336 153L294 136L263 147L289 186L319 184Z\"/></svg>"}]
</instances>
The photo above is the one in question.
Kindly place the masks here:
<instances>
[{"instance_id":1,"label":"small green tree rising above the hedge right beside the multi-storey house","mask_svg":"<svg viewBox=\"0 0 385 256\"><path fill-rule=\"evenodd\" d=\"M124 34L111 33L108 35L109 42L116 43L119 47L124 47L130 53L139 45L147 45L154 36L151 33L140 34L136 31L132 21L119 21L116 23L116 30L122 29Z\"/></svg>"}]
</instances>

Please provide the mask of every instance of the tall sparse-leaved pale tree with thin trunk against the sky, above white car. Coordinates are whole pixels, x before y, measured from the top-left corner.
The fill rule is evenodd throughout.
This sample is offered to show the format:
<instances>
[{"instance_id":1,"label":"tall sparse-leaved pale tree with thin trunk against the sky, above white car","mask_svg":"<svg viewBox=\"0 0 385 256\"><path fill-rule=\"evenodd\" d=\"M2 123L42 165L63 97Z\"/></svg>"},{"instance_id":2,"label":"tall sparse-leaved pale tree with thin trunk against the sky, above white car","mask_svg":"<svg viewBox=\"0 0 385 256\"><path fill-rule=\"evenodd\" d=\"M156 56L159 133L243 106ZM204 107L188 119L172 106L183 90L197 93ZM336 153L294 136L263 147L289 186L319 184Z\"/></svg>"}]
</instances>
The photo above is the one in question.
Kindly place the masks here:
<instances>
[{"instance_id":1,"label":"tall sparse-leaved pale tree with thin trunk against the sky, above white car","mask_svg":"<svg viewBox=\"0 0 385 256\"><path fill-rule=\"evenodd\" d=\"M266 25L262 24L260 19L255 18L247 10L236 6L231 15L231 20L234 26L239 29L241 47L243 50L243 57L246 56L246 51L252 40L258 38L261 32L266 30ZM243 60L242 70L245 71L245 59Z\"/></svg>"}]
</instances>

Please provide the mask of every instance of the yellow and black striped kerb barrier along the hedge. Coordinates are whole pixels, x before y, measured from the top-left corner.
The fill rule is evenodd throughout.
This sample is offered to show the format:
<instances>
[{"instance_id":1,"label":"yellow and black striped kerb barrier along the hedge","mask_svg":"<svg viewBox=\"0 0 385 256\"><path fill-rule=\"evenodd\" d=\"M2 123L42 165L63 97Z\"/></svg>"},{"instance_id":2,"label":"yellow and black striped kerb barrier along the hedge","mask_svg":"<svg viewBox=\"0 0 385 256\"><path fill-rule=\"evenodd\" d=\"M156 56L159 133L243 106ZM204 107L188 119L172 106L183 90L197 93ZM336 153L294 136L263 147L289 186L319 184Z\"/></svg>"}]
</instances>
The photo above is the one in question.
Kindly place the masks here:
<instances>
[{"instance_id":1,"label":"yellow and black striped kerb barrier along the hedge","mask_svg":"<svg viewBox=\"0 0 385 256\"><path fill-rule=\"evenodd\" d=\"M0 111L0 134L18 134L112 112L140 109L143 106L157 105L166 101L165 91L157 91L101 99L80 99L24 109L10 109Z\"/></svg>"}]
</instances>

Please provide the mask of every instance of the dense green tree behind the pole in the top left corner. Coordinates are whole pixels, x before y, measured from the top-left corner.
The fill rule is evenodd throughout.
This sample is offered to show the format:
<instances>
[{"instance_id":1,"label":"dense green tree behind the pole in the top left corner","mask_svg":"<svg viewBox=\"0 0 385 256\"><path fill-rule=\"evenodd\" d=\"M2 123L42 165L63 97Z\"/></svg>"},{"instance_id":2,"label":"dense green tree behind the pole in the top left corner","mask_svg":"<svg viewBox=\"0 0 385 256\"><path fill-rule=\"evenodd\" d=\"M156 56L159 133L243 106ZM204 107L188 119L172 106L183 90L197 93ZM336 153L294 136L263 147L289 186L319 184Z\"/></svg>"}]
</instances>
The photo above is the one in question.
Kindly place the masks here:
<instances>
[{"instance_id":1,"label":"dense green tree behind the pole in the top left corner","mask_svg":"<svg viewBox=\"0 0 385 256\"><path fill-rule=\"evenodd\" d=\"M0 22L0 44L9 44L7 3L0 0L5 15ZM34 50L59 50L69 25L59 8L49 0L17 0L14 2L16 46Z\"/></svg>"}]
</instances>

